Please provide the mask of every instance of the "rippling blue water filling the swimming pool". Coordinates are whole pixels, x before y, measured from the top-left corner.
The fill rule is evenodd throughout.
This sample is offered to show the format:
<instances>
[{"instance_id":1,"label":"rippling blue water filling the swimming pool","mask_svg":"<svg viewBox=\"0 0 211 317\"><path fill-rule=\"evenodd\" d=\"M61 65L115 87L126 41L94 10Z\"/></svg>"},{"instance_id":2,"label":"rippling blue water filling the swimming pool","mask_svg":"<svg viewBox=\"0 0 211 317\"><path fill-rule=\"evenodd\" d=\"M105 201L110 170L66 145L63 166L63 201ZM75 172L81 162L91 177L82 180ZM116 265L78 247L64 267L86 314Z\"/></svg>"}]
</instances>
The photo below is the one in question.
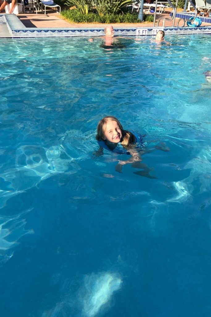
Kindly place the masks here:
<instances>
[{"instance_id":1,"label":"rippling blue water filling the swimming pool","mask_svg":"<svg viewBox=\"0 0 211 317\"><path fill-rule=\"evenodd\" d=\"M1 39L0 315L209 317L209 36ZM146 134L150 179L95 131Z\"/></svg>"}]
</instances>

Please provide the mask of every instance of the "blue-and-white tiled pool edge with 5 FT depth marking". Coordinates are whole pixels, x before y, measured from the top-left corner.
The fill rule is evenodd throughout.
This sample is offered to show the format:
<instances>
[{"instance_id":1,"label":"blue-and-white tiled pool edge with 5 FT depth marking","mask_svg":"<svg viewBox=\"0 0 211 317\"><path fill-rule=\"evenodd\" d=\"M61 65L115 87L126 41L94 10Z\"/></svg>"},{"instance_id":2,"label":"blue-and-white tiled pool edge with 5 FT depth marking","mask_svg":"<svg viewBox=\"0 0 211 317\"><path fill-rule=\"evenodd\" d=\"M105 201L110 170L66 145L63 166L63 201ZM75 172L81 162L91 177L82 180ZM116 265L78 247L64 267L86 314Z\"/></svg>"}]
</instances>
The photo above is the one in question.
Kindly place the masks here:
<instances>
[{"instance_id":1,"label":"blue-and-white tiled pool edge with 5 FT depth marking","mask_svg":"<svg viewBox=\"0 0 211 317\"><path fill-rule=\"evenodd\" d=\"M15 14L1 15L7 23L10 37L71 37L71 36L102 36L103 28L26 28ZM178 16L179 17L179 16ZM146 36L155 35L158 29L164 30L166 35L184 34L211 34L211 26L192 27L166 27L166 28L115 28L115 35L119 36Z\"/></svg>"}]
</instances>

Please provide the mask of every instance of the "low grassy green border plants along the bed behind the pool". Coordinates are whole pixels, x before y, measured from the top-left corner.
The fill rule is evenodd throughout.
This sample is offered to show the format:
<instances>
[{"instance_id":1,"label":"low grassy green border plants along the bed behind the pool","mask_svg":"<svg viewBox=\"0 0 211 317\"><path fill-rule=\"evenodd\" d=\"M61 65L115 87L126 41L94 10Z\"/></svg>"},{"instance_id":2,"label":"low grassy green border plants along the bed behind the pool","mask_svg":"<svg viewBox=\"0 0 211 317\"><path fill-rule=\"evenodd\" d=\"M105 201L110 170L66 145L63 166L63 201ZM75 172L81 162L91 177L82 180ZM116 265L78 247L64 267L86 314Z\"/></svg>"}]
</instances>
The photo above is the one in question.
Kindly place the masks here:
<instances>
[{"instance_id":1,"label":"low grassy green border plants along the bed behind the pool","mask_svg":"<svg viewBox=\"0 0 211 317\"><path fill-rule=\"evenodd\" d=\"M61 15L65 19L74 23L138 23L137 13L126 13L126 14L106 14L99 16L94 12L83 14L79 10L64 10L61 11Z\"/></svg>"}]
</instances>

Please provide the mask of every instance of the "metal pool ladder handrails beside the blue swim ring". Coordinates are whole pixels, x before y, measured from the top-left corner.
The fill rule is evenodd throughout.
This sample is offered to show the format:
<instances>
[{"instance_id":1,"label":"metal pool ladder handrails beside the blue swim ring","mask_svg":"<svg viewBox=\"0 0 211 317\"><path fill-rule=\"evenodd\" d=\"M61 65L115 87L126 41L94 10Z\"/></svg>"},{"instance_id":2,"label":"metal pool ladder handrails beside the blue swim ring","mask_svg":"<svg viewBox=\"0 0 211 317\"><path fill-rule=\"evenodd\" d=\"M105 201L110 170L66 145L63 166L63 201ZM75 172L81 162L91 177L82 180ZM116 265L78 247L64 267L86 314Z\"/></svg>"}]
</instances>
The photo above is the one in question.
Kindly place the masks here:
<instances>
[{"instance_id":1,"label":"metal pool ladder handrails beside the blue swim ring","mask_svg":"<svg viewBox=\"0 0 211 317\"><path fill-rule=\"evenodd\" d=\"M162 20L163 20L163 26L162 26L163 28L164 28L164 26L165 26L165 21L172 21L172 20L173 20L173 25L172 25L172 27L174 27L175 18L176 18L176 13L177 13L177 3L178 3L178 0L176 0L176 6L174 6L170 0L167 0L167 1L168 1L168 3L170 4L170 6L171 6L171 8L172 8L172 16L171 16L171 18L161 18L161 19L159 19L158 22L157 22L157 27L159 26L159 22L162 21ZM178 27L179 22L180 22L181 20L183 20L183 25L182 25L182 28L183 28L183 27L185 26L185 22L186 22L186 21L191 21L191 22L193 22L193 21L195 20L196 16L197 16L197 9L196 9L195 5L193 4L193 2L192 2L191 0L188 0L188 1L189 1L189 3L191 4L191 6L195 9L194 19L193 19L193 20L190 20L190 19L180 18L180 19L177 21L177 27ZM155 27L157 4L158 4L158 0L156 0L156 2L155 2L155 14L154 14L153 28Z\"/></svg>"}]
</instances>

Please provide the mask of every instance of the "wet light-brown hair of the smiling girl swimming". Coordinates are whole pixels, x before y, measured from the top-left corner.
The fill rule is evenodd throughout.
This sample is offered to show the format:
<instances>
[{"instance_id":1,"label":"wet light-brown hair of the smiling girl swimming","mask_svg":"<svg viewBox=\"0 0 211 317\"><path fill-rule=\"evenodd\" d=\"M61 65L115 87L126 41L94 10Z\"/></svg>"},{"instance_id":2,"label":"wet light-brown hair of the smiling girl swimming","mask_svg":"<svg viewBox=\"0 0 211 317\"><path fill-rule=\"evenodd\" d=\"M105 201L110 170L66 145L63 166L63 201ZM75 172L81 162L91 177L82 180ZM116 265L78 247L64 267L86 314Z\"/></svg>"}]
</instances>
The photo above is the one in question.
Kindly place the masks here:
<instances>
[{"instance_id":1,"label":"wet light-brown hair of the smiling girl swimming","mask_svg":"<svg viewBox=\"0 0 211 317\"><path fill-rule=\"evenodd\" d=\"M135 142L135 136L133 135L133 133L127 130L124 130L119 120L113 116L104 117L99 121L97 125L97 134L96 134L97 141L102 141L105 139L106 124L108 121L116 121L118 126L120 127L121 134L122 134L121 141L120 141L121 145L129 146L130 144L133 144Z\"/></svg>"}]
</instances>

